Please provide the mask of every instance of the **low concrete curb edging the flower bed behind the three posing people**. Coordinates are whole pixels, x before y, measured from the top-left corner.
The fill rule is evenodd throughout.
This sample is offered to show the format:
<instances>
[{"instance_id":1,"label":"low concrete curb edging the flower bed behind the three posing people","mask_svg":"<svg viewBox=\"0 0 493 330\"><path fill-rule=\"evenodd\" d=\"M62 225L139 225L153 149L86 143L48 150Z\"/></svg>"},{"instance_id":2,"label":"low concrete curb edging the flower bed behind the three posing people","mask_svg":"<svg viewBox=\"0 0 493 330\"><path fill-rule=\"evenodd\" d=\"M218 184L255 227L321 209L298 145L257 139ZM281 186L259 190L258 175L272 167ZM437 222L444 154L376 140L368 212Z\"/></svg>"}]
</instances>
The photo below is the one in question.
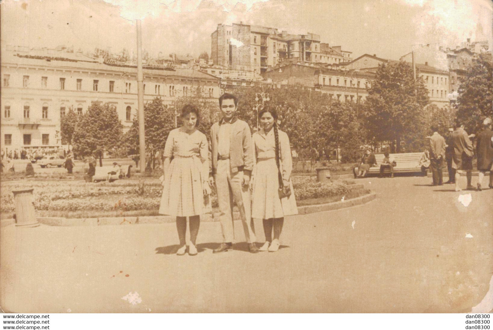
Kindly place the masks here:
<instances>
[{"instance_id":1,"label":"low concrete curb edging the flower bed behind the three posing people","mask_svg":"<svg viewBox=\"0 0 493 330\"><path fill-rule=\"evenodd\" d=\"M354 185L354 186L363 186L363 185ZM352 188L356 189L356 188ZM332 211L338 210L341 208L351 207L355 205L365 204L377 196L376 193L370 193L365 196L360 196L356 198L352 198L349 200L341 200L335 201L331 203L325 204L317 204L317 205L306 205L306 206L298 206L298 214L310 214L315 212L322 211ZM219 217L219 213L214 214L205 214L202 217L202 221L211 221L212 219L217 219ZM240 213L233 213L234 220L239 220ZM172 223L175 221L175 218L172 216L145 216L145 217L105 217L105 218L80 218L80 219L67 219L61 217L39 217L37 221L40 224L47 226L61 226L61 227L70 227L70 226L105 226L105 225L138 225L138 224L164 224L164 223ZM214 221L214 220L212 220ZM5 227L9 225L14 225L14 219L3 219L0 221L0 227Z\"/></svg>"}]
</instances>

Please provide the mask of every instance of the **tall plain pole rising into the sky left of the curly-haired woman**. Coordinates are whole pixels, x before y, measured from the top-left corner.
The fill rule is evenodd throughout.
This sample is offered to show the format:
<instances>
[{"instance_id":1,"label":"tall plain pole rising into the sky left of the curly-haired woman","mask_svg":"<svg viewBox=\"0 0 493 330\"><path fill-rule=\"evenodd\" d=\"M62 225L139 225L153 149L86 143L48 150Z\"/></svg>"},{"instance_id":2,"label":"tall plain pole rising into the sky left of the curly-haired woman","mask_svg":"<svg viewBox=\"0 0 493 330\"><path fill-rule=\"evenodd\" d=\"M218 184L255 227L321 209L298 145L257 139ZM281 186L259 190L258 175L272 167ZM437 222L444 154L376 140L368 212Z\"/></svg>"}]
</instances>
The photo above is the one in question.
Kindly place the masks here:
<instances>
[{"instance_id":1,"label":"tall plain pole rising into the sky left of the curly-haired woman","mask_svg":"<svg viewBox=\"0 0 493 330\"><path fill-rule=\"evenodd\" d=\"M145 133L144 133L144 76L142 72L142 30L141 20L137 20L137 99L139 112L139 153L141 173L145 171Z\"/></svg>"}]
</instances>

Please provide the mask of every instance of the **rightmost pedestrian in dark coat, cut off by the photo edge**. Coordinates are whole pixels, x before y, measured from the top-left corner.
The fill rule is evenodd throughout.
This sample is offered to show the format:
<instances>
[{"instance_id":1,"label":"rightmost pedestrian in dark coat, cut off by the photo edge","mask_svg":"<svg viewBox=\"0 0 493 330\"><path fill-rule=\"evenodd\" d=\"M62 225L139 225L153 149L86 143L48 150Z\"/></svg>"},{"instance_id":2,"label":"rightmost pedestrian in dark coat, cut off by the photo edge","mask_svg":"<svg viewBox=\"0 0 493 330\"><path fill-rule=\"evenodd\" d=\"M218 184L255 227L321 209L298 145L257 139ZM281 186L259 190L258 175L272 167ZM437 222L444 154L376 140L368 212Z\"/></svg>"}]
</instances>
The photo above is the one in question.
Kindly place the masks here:
<instances>
[{"instance_id":1,"label":"rightmost pedestrian in dark coat, cut off by the photo edge","mask_svg":"<svg viewBox=\"0 0 493 330\"><path fill-rule=\"evenodd\" d=\"M478 157L478 190L482 190L486 172L490 172L490 188L493 188L493 132L492 119L483 121L483 131L477 135L476 155Z\"/></svg>"}]
</instances>

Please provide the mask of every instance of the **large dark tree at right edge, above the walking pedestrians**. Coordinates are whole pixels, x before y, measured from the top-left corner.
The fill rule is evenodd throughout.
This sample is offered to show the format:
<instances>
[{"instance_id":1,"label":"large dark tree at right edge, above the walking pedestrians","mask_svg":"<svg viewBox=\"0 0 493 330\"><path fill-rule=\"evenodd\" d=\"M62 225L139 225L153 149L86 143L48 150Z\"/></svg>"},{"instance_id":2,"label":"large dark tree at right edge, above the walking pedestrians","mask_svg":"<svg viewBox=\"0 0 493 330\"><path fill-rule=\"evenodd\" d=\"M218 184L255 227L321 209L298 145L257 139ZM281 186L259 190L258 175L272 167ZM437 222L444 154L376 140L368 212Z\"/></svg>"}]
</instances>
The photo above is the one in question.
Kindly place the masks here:
<instances>
[{"instance_id":1,"label":"large dark tree at right edge, above the walking pedestrians","mask_svg":"<svg viewBox=\"0 0 493 330\"><path fill-rule=\"evenodd\" d=\"M493 116L492 75L491 54L481 54L460 79L457 117L464 122L467 132L477 131L485 117Z\"/></svg>"}]
</instances>

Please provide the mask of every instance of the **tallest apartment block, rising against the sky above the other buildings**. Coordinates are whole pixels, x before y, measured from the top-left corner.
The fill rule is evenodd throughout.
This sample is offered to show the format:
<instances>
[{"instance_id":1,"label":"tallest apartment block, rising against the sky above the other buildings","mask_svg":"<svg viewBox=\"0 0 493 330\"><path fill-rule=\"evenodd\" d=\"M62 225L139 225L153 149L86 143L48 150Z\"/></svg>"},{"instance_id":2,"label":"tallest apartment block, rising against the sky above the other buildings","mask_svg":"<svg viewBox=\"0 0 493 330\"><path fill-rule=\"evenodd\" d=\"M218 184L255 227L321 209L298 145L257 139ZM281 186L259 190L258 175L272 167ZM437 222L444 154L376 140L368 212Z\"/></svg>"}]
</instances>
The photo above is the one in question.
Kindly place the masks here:
<instances>
[{"instance_id":1,"label":"tallest apartment block, rising against the sky above the other buildings","mask_svg":"<svg viewBox=\"0 0 493 330\"><path fill-rule=\"evenodd\" d=\"M257 73L266 72L284 60L308 63L341 63L351 60L351 52L320 43L315 33L289 34L278 29L243 23L219 24L211 34L214 65Z\"/></svg>"}]
</instances>

